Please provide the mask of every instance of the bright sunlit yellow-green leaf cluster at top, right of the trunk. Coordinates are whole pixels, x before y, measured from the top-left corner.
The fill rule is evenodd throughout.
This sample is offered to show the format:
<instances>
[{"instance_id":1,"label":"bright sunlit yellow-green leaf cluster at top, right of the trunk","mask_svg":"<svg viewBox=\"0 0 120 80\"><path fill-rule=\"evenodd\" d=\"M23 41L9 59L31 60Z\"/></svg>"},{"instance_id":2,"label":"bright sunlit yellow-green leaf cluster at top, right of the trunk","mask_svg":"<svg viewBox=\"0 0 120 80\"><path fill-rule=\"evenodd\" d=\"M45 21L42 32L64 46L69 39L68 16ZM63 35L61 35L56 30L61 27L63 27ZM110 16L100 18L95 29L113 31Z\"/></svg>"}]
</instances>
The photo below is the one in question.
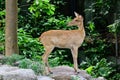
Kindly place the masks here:
<instances>
[{"instance_id":1,"label":"bright sunlit yellow-green leaf cluster at top, right of the trunk","mask_svg":"<svg viewBox=\"0 0 120 80\"><path fill-rule=\"evenodd\" d=\"M42 15L53 15L55 6L50 4L50 0L34 0L33 4L29 7L32 16L38 18Z\"/></svg>"}]
</instances>

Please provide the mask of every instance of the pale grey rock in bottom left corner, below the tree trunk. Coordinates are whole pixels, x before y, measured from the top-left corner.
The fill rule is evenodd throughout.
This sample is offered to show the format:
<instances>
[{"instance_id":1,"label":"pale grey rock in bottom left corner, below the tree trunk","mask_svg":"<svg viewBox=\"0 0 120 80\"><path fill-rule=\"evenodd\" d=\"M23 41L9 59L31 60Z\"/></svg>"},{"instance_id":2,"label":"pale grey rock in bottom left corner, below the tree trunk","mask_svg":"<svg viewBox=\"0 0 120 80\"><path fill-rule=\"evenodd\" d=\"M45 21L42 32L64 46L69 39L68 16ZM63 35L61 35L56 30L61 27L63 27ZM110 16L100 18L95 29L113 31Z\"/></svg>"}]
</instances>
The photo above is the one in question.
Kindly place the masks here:
<instances>
[{"instance_id":1,"label":"pale grey rock in bottom left corner, below the tree trunk","mask_svg":"<svg viewBox=\"0 0 120 80\"><path fill-rule=\"evenodd\" d=\"M0 80L37 80L37 76L31 69L4 65L0 67Z\"/></svg>"}]
</instances>

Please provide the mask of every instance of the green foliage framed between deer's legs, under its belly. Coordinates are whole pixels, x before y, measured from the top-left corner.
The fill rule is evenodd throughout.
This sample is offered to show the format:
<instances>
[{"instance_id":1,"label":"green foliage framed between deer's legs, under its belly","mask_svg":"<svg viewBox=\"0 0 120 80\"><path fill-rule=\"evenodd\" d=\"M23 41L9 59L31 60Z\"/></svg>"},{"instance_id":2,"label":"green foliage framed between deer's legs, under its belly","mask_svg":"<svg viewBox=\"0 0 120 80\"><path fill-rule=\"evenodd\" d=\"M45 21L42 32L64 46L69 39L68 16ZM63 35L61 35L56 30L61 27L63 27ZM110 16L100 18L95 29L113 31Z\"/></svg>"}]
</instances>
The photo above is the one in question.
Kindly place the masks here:
<instances>
[{"instance_id":1,"label":"green foliage framed between deer's legs, under its belly","mask_svg":"<svg viewBox=\"0 0 120 80\"><path fill-rule=\"evenodd\" d=\"M71 52L68 50L55 50L49 56L49 62L52 67L58 65L72 65Z\"/></svg>"}]
</instances>

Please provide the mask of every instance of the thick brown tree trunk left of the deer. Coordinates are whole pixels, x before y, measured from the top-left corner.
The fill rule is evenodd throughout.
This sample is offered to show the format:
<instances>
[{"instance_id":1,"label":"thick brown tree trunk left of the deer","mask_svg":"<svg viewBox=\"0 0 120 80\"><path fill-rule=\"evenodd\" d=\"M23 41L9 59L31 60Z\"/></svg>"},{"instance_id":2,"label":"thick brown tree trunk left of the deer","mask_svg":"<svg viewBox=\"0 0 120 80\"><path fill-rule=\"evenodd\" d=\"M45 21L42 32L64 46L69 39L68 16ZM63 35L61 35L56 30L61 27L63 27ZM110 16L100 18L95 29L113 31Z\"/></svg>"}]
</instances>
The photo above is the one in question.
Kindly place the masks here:
<instances>
[{"instance_id":1,"label":"thick brown tree trunk left of the deer","mask_svg":"<svg viewBox=\"0 0 120 80\"><path fill-rule=\"evenodd\" d=\"M17 45L17 0L6 0L5 55L18 53Z\"/></svg>"}]
</instances>

